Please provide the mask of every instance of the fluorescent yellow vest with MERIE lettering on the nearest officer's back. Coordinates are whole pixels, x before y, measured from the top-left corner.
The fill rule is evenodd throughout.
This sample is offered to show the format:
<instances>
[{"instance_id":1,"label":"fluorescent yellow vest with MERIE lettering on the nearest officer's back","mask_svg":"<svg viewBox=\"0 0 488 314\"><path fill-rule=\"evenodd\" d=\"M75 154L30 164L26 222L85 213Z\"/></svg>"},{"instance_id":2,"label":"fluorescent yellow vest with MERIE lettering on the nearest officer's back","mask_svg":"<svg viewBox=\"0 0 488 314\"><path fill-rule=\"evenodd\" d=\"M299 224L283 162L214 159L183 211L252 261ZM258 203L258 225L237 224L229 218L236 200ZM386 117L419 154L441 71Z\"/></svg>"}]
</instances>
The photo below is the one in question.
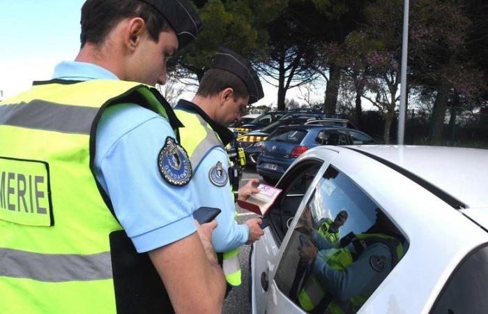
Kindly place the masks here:
<instances>
[{"instance_id":1,"label":"fluorescent yellow vest with MERIE lettering on the nearest officer's back","mask_svg":"<svg viewBox=\"0 0 488 314\"><path fill-rule=\"evenodd\" d=\"M0 103L0 313L171 311L93 176L102 110L137 102L167 118L160 97L134 82L55 80Z\"/></svg>"}]
</instances>

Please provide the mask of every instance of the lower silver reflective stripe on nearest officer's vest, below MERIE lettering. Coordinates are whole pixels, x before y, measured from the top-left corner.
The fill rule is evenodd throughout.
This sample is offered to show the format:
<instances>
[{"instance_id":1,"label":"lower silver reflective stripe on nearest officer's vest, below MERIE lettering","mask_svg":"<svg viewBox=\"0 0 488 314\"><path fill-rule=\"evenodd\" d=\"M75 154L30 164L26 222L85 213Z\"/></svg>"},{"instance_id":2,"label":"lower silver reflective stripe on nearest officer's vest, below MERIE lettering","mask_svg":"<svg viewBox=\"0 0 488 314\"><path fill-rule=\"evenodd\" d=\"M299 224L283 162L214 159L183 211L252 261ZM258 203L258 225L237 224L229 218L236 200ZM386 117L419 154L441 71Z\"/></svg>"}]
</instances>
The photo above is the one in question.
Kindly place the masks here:
<instances>
[{"instance_id":1,"label":"lower silver reflective stripe on nearest officer's vest, below MERIE lettering","mask_svg":"<svg viewBox=\"0 0 488 314\"><path fill-rule=\"evenodd\" d=\"M95 281L112 278L110 252L42 254L0 248L0 276L36 281Z\"/></svg>"}]
</instances>

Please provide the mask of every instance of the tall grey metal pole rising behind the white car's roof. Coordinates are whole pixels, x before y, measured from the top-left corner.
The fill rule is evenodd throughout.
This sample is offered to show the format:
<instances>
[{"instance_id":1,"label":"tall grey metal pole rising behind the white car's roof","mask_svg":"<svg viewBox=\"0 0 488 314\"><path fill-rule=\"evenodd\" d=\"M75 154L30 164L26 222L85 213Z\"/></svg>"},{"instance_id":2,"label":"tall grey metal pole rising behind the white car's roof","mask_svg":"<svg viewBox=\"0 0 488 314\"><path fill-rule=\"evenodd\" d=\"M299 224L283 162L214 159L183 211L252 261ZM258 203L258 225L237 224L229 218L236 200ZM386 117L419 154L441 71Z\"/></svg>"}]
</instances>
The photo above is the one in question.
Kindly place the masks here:
<instances>
[{"instance_id":1,"label":"tall grey metal pole rising behind the white car's roof","mask_svg":"<svg viewBox=\"0 0 488 314\"><path fill-rule=\"evenodd\" d=\"M404 0L403 15L403 43L402 43L402 77L400 84L400 110L398 117L398 144L403 145L405 133L405 112L406 112L406 57L409 47L409 0Z\"/></svg>"}]
</instances>

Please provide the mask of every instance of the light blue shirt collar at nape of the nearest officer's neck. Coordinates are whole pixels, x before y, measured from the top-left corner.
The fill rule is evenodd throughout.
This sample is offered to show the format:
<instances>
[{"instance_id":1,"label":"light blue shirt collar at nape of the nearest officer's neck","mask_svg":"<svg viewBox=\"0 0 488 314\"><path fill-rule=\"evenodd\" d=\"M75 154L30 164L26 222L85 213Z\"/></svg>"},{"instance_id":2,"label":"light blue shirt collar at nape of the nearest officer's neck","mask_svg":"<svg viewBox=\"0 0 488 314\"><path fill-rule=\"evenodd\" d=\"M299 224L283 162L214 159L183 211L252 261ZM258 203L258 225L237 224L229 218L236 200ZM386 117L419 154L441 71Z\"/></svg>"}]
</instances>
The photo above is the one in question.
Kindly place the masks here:
<instances>
[{"instance_id":1,"label":"light blue shirt collar at nape of the nearest officer's neck","mask_svg":"<svg viewBox=\"0 0 488 314\"><path fill-rule=\"evenodd\" d=\"M62 61L54 68L54 80L86 81L95 79L119 80L114 73L93 63Z\"/></svg>"}]
</instances>

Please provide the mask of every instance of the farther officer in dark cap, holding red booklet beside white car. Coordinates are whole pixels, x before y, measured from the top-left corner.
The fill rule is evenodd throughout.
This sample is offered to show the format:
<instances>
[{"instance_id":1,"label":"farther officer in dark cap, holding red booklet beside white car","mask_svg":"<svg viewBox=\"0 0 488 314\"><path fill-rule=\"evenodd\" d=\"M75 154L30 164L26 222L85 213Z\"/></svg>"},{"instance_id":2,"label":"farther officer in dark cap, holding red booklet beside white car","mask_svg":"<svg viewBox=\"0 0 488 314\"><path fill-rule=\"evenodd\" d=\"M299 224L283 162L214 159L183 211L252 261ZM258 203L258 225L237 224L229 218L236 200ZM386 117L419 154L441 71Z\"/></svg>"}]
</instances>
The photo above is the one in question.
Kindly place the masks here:
<instances>
[{"instance_id":1,"label":"farther officer in dark cap, holding red booklet beside white car","mask_svg":"<svg viewBox=\"0 0 488 314\"><path fill-rule=\"evenodd\" d=\"M236 52L220 48L195 97L191 102L179 100L175 110L185 126L181 128L181 144L190 155L194 171L195 207L222 209L216 218L218 227L213 231L212 243L229 287L241 284L237 248L256 241L264 232L259 227L260 218L236 223L231 181L237 183L238 179L229 171L229 156L224 148L234 134L227 126L241 118L248 104L263 96L261 82L250 62ZM257 182L247 182L236 197L246 200L251 193L259 192L252 186Z\"/></svg>"}]
</instances>

